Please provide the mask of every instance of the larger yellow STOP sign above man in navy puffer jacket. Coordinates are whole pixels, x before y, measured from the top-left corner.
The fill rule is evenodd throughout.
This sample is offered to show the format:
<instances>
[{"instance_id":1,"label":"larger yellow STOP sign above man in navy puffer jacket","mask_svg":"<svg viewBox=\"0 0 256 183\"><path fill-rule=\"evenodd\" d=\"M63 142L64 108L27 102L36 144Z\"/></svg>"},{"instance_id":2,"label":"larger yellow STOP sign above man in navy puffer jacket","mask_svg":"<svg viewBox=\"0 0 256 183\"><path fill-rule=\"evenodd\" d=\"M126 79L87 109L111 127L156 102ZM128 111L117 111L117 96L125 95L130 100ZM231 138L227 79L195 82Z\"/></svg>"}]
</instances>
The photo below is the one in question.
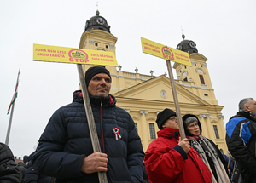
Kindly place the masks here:
<instances>
[{"instance_id":1,"label":"larger yellow STOP sign above man in navy puffer jacket","mask_svg":"<svg viewBox=\"0 0 256 183\"><path fill-rule=\"evenodd\" d=\"M119 66L113 52L33 44L34 61Z\"/></svg>"}]
</instances>

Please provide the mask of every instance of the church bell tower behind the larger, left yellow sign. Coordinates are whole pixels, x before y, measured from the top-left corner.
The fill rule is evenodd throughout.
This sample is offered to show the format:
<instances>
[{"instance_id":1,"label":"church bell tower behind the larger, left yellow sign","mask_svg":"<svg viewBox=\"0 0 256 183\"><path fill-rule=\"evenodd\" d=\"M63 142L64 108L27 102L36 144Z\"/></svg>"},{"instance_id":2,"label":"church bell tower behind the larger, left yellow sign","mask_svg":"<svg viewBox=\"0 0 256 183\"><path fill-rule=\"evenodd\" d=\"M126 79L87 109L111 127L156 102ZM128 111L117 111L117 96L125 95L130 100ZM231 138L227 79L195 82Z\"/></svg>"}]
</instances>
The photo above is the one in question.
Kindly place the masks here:
<instances>
[{"instance_id":1,"label":"church bell tower behind the larger, left yellow sign","mask_svg":"<svg viewBox=\"0 0 256 183\"><path fill-rule=\"evenodd\" d=\"M79 49L93 49L99 51L108 51L115 54L115 43L117 37L110 33L110 26L107 20L100 16L100 12L96 10L96 16L86 20L84 33L80 39ZM84 71L87 71L93 65L84 65ZM116 76L115 66L105 66L110 74ZM111 76L112 77L112 76ZM112 77L113 80L113 77Z\"/></svg>"}]
</instances>

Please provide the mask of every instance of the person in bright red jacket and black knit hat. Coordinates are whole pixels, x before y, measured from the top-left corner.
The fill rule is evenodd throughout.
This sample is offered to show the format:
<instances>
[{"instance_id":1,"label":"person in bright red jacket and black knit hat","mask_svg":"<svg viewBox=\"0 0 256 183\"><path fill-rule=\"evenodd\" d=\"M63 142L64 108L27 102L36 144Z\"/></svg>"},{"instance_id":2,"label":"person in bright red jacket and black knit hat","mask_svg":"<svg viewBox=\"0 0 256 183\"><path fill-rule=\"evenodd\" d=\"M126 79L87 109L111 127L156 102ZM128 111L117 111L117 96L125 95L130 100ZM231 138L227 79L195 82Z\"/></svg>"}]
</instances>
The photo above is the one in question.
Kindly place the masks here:
<instances>
[{"instance_id":1,"label":"person in bright red jacket and black knit hat","mask_svg":"<svg viewBox=\"0 0 256 183\"><path fill-rule=\"evenodd\" d=\"M179 138L176 112L165 109L157 115L160 131L145 152L145 167L151 183L189 182L212 183L206 164L189 140Z\"/></svg>"}]
</instances>

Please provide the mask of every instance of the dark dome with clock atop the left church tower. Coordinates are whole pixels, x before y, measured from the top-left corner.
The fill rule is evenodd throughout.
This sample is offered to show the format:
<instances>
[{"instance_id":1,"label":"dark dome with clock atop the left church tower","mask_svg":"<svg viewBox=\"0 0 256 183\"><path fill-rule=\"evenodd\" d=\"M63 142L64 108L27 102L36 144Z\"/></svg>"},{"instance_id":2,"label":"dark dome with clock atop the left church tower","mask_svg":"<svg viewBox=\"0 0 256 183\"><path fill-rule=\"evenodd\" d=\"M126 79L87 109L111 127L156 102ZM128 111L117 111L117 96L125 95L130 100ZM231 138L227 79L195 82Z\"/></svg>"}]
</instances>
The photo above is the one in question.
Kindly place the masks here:
<instances>
[{"instance_id":1,"label":"dark dome with clock atop the left church tower","mask_svg":"<svg viewBox=\"0 0 256 183\"><path fill-rule=\"evenodd\" d=\"M102 31L108 31L110 33L110 26L108 26L107 20L100 16L100 12L96 10L96 16L86 20L85 31L99 29Z\"/></svg>"}]
</instances>

